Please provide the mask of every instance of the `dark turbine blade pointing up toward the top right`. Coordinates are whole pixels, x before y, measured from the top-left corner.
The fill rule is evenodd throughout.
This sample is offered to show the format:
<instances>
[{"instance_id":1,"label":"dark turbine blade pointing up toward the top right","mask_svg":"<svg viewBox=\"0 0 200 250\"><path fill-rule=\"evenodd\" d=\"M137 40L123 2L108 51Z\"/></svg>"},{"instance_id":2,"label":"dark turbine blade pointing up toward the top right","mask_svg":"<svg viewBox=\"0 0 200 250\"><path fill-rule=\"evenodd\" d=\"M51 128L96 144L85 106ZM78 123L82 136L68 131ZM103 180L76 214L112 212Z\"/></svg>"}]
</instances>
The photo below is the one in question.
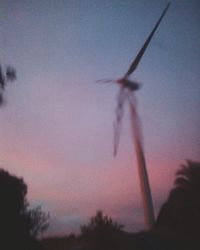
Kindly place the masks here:
<instances>
[{"instance_id":1,"label":"dark turbine blade pointing up toward the top right","mask_svg":"<svg viewBox=\"0 0 200 250\"><path fill-rule=\"evenodd\" d=\"M151 33L149 34L147 40L145 41L144 45L142 46L142 48L140 49L139 53L137 54L136 58L134 59L134 61L132 62L131 66L129 67L128 71L126 72L126 74L124 75L124 78L127 78L131 73L133 73L133 71L137 68L146 48L148 47L154 33L156 32L159 24L161 23L163 17L165 16L167 10L169 9L170 3L167 4L167 6L165 7L162 15L160 16L160 18L158 19L157 23L155 24L153 30L151 31Z\"/></svg>"}]
</instances>

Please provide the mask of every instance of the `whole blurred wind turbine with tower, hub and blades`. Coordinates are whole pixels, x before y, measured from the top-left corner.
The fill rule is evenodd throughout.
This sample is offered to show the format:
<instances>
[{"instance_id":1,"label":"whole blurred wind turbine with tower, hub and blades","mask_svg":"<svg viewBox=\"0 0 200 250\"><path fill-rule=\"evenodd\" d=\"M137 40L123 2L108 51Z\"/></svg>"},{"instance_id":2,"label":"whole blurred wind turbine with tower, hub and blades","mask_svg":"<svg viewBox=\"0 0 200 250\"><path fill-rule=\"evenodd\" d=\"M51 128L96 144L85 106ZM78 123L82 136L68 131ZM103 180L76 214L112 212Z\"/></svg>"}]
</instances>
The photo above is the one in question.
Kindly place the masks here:
<instances>
[{"instance_id":1,"label":"whole blurred wind turbine with tower, hub and blades","mask_svg":"<svg viewBox=\"0 0 200 250\"><path fill-rule=\"evenodd\" d=\"M140 188L142 193L142 202L144 208L144 221L147 229L150 229L154 225L154 209L153 202L151 197L150 185L148 180L148 173L146 169L146 162L144 156L144 149L142 143L142 132L140 126L139 116L137 114L136 109L136 99L134 96L134 91L140 88L140 84L136 81L132 81L129 79L130 75L136 70L142 56L144 55L145 50L147 49L154 33L156 32L159 24L161 23L163 17L165 16L170 3L167 4L165 9L163 10L160 18L156 22L154 28L151 33L147 37L145 43L140 49L139 53L131 63L128 71L124 74L122 78L117 80L99 80L97 82L103 83L117 83L120 85L120 90L117 98L117 108L116 108L116 121L114 123L114 155L117 154L117 148L119 144L119 137L121 132L121 121L124 113L124 103L125 101L129 101L129 107L131 112L131 123L133 129L133 137L134 144L136 150L136 158L138 164L138 172L139 172L139 180L140 180Z\"/></svg>"}]
</instances>

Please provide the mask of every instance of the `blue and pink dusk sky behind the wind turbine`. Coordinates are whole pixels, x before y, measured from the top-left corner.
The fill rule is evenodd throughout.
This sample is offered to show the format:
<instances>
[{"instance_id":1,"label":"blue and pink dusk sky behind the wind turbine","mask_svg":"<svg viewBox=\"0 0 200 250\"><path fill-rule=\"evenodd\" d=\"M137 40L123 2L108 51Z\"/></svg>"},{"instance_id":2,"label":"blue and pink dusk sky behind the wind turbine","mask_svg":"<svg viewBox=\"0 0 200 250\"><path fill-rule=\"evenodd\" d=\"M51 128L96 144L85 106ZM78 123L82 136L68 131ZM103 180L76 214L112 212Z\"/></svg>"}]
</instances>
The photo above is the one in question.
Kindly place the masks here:
<instances>
[{"instance_id":1,"label":"blue and pink dusk sky behind the wind turbine","mask_svg":"<svg viewBox=\"0 0 200 250\"><path fill-rule=\"evenodd\" d=\"M97 209L144 228L128 107L117 157L117 78L166 0L1 0L0 62L17 81L0 108L0 166L23 177L49 234L78 232ZM200 161L200 2L172 1L132 79L156 213L186 159Z\"/></svg>"}]
</instances>

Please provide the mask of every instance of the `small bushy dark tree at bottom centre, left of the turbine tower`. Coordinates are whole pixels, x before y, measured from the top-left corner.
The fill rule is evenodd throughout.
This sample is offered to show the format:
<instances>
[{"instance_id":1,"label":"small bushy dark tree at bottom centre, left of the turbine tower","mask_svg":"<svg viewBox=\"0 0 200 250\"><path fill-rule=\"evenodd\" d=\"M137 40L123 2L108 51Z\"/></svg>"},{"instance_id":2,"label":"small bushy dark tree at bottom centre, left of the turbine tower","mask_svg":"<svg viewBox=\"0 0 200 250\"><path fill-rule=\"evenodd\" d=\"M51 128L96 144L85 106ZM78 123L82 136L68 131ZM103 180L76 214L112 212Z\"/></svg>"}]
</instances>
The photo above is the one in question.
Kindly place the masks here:
<instances>
[{"instance_id":1,"label":"small bushy dark tree at bottom centre, left of the turbine tower","mask_svg":"<svg viewBox=\"0 0 200 250\"><path fill-rule=\"evenodd\" d=\"M88 225L81 226L81 237L86 249L116 249L115 239L123 232L122 229L122 225L97 211Z\"/></svg>"}]
</instances>

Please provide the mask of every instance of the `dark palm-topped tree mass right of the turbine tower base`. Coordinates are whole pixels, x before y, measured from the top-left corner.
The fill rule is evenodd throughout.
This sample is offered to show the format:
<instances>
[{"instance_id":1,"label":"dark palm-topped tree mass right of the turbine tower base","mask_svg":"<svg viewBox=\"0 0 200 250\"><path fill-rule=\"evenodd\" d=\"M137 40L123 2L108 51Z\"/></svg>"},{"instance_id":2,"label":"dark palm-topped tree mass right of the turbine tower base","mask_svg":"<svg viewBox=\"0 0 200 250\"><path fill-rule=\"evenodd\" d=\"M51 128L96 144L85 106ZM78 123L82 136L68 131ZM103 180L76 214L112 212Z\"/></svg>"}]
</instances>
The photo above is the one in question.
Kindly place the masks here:
<instances>
[{"instance_id":1,"label":"dark palm-topped tree mass right of the turbine tower base","mask_svg":"<svg viewBox=\"0 0 200 250\"><path fill-rule=\"evenodd\" d=\"M155 227L182 241L197 243L200 237L199 194L200 163L187 161L176 173L174 188L159 212Z\"/></svg>"}]
</instances>

